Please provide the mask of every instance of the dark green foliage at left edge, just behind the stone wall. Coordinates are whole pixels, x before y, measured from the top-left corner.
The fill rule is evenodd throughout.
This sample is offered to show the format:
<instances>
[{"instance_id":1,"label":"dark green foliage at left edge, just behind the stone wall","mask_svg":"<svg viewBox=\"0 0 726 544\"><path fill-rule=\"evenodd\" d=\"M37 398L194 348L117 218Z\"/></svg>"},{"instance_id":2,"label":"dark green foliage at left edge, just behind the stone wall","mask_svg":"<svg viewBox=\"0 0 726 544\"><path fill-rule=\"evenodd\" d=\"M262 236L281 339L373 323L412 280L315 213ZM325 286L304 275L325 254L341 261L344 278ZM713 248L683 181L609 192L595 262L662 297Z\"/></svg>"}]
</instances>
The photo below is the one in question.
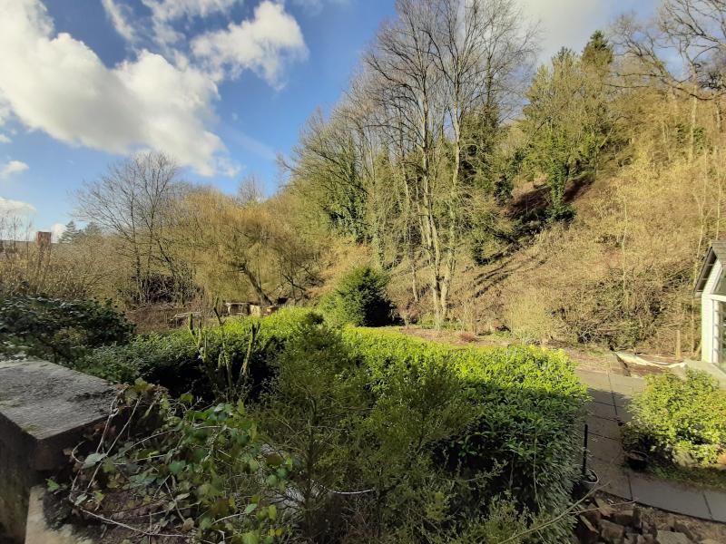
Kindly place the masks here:
<instances>
[{"instance_id":1,"label":"dark green foliage at left edge, just behind the stone wall","mask_svg":"<svg viewBox=\"0 0 726 544\"><path fill-rule=\"evenodd\" d=\"M110 302L48 296L0 298L0 349L69 363L100 345L123 343L133 325Z\"/></svg>"}]
</instances>

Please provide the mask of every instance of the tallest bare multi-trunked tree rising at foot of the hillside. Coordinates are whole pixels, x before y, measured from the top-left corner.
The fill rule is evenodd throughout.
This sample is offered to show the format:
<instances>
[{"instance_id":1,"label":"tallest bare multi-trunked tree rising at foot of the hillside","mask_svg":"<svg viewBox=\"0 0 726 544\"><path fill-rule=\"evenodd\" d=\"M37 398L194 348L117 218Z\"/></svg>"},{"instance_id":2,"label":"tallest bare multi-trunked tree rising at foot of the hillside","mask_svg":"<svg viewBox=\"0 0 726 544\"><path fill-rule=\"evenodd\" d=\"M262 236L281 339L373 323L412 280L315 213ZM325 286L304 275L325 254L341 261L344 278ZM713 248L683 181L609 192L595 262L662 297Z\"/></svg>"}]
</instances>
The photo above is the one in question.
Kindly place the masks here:
<instances>
[{"instance_id":1,"label":"tallest bare multi-trunked tree rising at foot of the hillside","mask_svg":"<svg viewBox=\"0 0 726 544\"><path fill-rule=\"evenodd\" d=\"M365 57L379 125L397 142L404 194L417 217L437 325L461 247L468 188L460 181L462 123L503 105L508 83L534 53L510 0L399 0Z\"/></svg>"}]
</instances>

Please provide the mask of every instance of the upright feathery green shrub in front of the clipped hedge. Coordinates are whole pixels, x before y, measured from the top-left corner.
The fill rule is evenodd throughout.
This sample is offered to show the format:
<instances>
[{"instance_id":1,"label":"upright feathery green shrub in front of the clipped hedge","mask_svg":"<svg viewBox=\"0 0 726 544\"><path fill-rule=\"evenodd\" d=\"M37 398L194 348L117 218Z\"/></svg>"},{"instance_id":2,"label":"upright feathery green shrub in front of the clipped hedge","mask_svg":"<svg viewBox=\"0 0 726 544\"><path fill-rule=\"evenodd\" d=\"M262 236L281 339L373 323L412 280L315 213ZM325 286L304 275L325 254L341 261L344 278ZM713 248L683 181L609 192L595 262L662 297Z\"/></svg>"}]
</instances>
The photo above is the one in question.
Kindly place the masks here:
<instances>
[{"instance_id":1,"label":"upright feathery green shrub in front of the clipped hedge","mask_svg":"<svg viewBox=\"0 0 726 544\"><path fill-rule=\"evenodd\" d=\"M335 329L310 320L287 339L275 376L261 400L260 422L281 450L294 452L294 481L305 539L320 541L336 529L324 490L345 489L357 462L349 432L366 409L362 377L350 364Z\"/></svg>"}]
</instances>

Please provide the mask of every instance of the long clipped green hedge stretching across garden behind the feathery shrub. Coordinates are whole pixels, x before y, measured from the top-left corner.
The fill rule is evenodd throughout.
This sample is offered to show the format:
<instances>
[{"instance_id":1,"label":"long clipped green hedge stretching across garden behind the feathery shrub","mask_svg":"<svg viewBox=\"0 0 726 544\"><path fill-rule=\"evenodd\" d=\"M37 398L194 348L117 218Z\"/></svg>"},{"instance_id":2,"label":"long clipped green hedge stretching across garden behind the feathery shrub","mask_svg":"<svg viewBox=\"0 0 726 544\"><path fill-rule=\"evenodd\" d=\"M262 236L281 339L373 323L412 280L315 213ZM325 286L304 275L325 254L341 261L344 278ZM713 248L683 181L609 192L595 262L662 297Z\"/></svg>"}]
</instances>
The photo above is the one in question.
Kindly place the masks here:
<instances>
[{"instance_id":1,"label":"long clipped green hedge stretching across garden behind the feathery shrub","mask_svg":"<svg viewBox=\"0 0 726 544\"><path fill-rule=\"evenodd\" d=\"M258 321L225 324L232 359L244 355L250 326ZM378 514L385 526L401 529L397 512L413 508L412 500L423 510L444 508L444 495L446 515L451 516L446 519L456 520L455 525L480 516L497 497L511 496L518 510L529 510L541 520L568 506L579 465L586 393L562 352L456 348L376 329L329 329L321 321L305 309L281 310L262 320L264 347L250 364L251 383L257 388L251 398L259 400L258 415L264 421L267 404L280 394L275 387L285 364L289 368L282 370L292 373L290 384L318 364L314 374L326 384L323 400L328 399L323 393L332 394L335 387L357 390L362 404L344 411L344 419L335 423L341 429L340 443L331 455L342 474L341 489L380 491L380 496L359 500L385 503L388 514ZM209 349L219 350L218 328L211 328L209 339ZM298 360L307 364L289 363ZM338 366L328 368L333 361ZM175 394L209 393L185 330L103 347L83 364L93 374L115 374L125 381L143 377ZM340 364L348 368L340 370ZM296 372L302 374L296 377ZM263 391L267 393L258 394ZM282 407L295 402L307 406L307 401L290 399ZM286 433L278 438L284 449ZM562 541L568 522L565 517L551 525L538 533L537 541Z\"/></svg>"}]
</instances>

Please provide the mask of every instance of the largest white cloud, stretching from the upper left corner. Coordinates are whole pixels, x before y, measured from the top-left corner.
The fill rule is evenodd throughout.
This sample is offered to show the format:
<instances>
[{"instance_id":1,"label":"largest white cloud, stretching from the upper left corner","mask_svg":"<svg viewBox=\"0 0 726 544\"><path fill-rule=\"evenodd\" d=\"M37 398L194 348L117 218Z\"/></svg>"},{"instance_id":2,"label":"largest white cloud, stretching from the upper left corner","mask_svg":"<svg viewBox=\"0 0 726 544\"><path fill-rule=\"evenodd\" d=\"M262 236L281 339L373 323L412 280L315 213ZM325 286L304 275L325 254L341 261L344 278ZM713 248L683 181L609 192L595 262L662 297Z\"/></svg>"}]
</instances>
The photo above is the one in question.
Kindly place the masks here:
<instances>
[{"instance_id":1,"label":"largest white cloud, stretching from the upper left corner","mask_svg":"<svg viewBox=\"0 0 726 544\"><path fill-rule=\"evenodd\" d=\"M70 34L54 35L38 0L0 0L0 103L57 140L125 153L152 148L211 175L225 148L205 128L216 83L143 50L113 69Z\"/></svg>"}]
</instances>

